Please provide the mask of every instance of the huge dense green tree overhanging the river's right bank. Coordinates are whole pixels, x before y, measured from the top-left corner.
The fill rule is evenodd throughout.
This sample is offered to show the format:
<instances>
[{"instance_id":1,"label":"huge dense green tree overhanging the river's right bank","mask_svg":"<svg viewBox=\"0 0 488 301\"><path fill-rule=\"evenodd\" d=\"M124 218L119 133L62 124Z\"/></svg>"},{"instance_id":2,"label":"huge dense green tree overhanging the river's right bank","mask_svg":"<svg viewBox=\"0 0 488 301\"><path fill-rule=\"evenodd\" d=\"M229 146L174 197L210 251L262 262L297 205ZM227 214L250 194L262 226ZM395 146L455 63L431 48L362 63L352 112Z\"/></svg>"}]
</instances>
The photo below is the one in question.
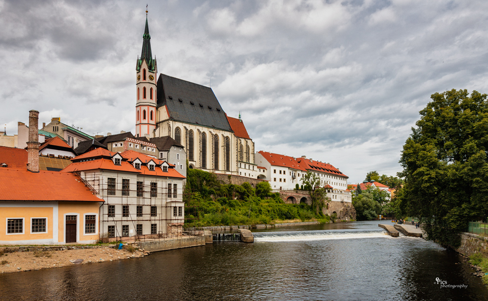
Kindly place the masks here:
<instances>
[{"instance_id":1,"label":"huge dense green tree overhanging the river's right bank","mask_svg":"<svg viewBox=\"0 0 488 301\"><path fill-rule=\"evenodd\" d=\"M468 221L488 213L487 95L451 90L430 98L403 147L400 202L428 239L456 246Z\"/></svg>"}]
</instances>

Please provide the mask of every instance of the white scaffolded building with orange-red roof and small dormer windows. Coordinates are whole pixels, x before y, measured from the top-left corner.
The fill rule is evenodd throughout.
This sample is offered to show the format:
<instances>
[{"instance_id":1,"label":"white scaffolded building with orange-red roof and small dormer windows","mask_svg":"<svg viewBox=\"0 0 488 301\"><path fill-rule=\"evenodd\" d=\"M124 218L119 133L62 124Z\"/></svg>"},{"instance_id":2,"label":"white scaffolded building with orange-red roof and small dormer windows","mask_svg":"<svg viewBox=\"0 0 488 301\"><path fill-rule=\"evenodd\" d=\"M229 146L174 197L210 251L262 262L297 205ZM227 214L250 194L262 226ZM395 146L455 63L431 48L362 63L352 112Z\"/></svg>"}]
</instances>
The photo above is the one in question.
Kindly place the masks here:
<instances>
[{"instance_id":1,"label":"white scaffolded building with orange-red roof and small dormer windows","mask_svg":"<svg viewBox=\"0 0 488 301\"><path fill-rule=\"evenodd\" d=\"M185 177L175 165L137 151L104 148L71 161L63 171L80 174L105 200L100 208L102 235L111 239L181 235Z\"/></svg>"}]
</instances>

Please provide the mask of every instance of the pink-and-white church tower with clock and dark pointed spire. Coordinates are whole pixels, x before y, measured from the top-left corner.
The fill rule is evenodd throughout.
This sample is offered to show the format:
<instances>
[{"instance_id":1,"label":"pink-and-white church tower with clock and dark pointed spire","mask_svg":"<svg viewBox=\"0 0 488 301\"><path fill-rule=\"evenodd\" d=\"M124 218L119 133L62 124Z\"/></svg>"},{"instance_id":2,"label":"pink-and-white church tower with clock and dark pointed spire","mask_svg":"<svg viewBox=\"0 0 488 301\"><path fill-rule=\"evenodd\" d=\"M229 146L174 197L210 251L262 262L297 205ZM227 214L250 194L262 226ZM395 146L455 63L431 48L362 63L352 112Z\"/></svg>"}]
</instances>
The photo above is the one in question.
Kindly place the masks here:
<instances>
[{"instance_id":1,"label":"pink-and-white church tower with clock and dark pointed spire","mask_svg":"<svg viewBox=\"0 0 488 301\"><path fill-rule=\"evenodd\" d=\"M136 137L154 136L156 129L156 76L158 67L156 59L152 58L151 36L147 25L142 35L142 53L136 63Z\"/></svg>"}]
</instances>

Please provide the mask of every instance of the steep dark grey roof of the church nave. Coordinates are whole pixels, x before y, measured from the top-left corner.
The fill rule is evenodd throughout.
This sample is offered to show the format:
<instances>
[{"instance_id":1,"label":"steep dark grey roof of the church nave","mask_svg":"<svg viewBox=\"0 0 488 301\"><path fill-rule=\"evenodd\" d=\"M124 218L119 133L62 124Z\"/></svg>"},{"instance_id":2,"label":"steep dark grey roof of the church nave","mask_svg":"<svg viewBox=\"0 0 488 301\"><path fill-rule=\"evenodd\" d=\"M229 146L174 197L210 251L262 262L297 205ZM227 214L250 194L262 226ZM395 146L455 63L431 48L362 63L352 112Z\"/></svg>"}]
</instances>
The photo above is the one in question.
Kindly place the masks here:
<instances>
[{"instance_id":1,"label":"steep dark grey roof of the church nave","mask_svg":"<svg viewBox=\"0 0 488 301\"><path fill-rule=\"evenodd\" d=\"M158 107L166 105L172 120L232 132L224 110L212 89L160 74Z\"/></svg>"}]
</instances>

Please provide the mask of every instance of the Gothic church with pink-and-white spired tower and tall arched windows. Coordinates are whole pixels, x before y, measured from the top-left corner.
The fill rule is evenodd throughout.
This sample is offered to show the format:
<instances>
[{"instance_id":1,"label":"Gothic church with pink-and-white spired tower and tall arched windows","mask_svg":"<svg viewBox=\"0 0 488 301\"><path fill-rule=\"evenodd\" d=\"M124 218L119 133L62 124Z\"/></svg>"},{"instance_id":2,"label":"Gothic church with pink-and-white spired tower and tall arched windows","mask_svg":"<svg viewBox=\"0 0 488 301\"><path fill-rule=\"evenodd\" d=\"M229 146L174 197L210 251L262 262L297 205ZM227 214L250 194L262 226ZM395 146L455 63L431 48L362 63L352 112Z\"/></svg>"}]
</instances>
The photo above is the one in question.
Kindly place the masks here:
<instances>
[{"instance_id":1,"label":"Gothic church with pink-and-white spired tower and tall arched windows","mask_svg":"<svg viewBox=\"0 0 488 301\"><path fill-rule=\"evenodd\" d=\"M210 87L158 76L147 12L136 78L136 137L170 136L186 148L190 169L257 177L254 142L240 116L228 117Z\"/></svg>"}]
</instances>

